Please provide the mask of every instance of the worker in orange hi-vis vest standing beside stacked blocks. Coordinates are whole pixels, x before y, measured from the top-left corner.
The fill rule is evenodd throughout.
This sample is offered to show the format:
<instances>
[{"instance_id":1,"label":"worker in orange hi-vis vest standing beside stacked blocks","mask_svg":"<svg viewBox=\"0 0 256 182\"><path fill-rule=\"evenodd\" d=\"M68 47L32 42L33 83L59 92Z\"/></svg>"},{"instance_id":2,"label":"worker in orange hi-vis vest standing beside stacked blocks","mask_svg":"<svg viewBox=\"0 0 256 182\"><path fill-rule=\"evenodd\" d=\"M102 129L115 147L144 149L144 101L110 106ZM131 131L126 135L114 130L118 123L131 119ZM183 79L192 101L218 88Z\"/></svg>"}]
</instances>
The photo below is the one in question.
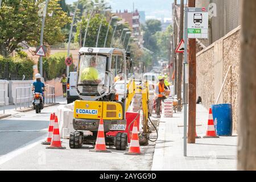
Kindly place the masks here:
<instances>
[{"instance_id":1,"label":"worker in orange hi-vis vest standing beside stacked blocks","mask_svg":"<svg viewBox=\"0 0 256 182\"><path fill-rule=\"evenodd\" d=\"M166 99L164 92L168 90L167 86L164 85L164 79L160 79L158 84L155 86L155 101L156 101L156 115L160 118L160 106L161 102Z\"/></svg>"}]
</instances>

